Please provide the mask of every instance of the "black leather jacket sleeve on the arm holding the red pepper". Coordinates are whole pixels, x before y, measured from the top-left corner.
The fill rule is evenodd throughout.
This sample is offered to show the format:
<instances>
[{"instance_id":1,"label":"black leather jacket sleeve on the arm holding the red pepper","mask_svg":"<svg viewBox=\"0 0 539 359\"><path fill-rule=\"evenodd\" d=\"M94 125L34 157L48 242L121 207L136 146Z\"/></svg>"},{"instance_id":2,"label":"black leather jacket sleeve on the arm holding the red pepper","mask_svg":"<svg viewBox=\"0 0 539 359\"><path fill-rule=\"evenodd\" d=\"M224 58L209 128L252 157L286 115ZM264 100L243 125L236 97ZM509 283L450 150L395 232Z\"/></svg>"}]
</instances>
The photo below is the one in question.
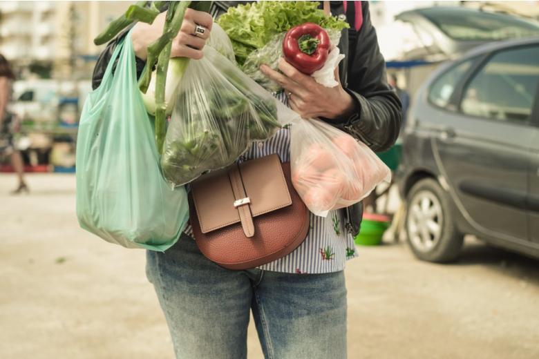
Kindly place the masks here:
<instances>
[{"instance_id":1,"label":"black leather jacket sleeve on the arm holding the red pepper","mask_svg":"<svg viewBox=\"0 0 539 359\"><path fill-rule=\"evenodd\" d=\"M386 79L376 30L370 22L368 2L362 1L363 25L354 43L350 43L348 86L356 100L357 113L335 124L367 144L372 151L387 151L399 136L401 103Z\"/></svg>"}]
</instances>

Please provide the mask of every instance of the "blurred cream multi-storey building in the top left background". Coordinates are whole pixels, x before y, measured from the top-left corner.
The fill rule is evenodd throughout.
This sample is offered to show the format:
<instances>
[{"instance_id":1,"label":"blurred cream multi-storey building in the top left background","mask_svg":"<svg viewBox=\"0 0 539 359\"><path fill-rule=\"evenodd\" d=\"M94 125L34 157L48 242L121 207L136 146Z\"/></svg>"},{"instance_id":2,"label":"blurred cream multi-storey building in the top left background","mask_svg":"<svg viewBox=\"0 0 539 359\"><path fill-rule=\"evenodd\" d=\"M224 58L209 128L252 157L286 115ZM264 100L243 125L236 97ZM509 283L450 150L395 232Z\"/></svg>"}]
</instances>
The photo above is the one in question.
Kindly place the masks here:
<instances>
[{"instance_id":1,"label":"blurred cream multi-storey building in the top left background","mask_svg":"<svg viewBox=\"0 0 539 359\"><path fill-rule=\"evenodd\" d=\"M0 53L28 77L28 65L58 79L86 78L83 55L102 47L93 38L125 12L125 1L0 1ZM86 64L91 65L91 64ZM91 67L91 66L89 66Z\"/></svg>"}]
</instances>

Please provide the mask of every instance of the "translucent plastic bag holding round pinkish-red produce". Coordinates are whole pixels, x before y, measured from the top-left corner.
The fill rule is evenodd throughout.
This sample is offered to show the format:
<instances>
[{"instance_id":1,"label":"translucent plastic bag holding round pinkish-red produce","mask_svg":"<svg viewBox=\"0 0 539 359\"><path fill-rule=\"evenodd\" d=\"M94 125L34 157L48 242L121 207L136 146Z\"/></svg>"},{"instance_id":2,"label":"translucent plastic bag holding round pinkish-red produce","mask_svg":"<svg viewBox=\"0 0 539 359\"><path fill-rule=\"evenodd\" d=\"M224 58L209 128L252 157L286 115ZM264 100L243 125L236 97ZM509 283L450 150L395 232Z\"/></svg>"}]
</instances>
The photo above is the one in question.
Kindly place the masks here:
<instances>
[{"instance_id":1,"label":"translucent plastic bag holding round pinkish-red produce","mask_svg":"<svg viewBox=\"0 0 539 359\"><path fill-rule=\"evenodd\" d=\"M292 184L315 215L351 206L390 182L390 169L368 146L330 124L294 120L290 136Z\"/></svg>"}]
</instances>

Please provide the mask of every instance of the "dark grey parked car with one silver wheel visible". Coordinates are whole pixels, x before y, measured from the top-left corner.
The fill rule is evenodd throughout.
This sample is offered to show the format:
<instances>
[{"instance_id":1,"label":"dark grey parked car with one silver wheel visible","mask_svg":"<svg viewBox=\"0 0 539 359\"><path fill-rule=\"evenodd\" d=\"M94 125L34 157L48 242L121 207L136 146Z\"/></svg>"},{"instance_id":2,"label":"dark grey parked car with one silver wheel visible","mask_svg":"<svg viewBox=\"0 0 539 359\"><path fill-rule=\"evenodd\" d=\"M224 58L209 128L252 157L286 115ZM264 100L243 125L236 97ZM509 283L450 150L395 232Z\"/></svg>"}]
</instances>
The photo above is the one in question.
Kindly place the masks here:
<instances>
[{"instance_id":1,"label":"dark grey parked car with one silver wheel visible","mask_svg":"<svg viewBox=\"0 0 539 359\"><path fill-rule=\"evenodd\" d=\"M539 258L539 38L491 43L419 89L397 171L422 260L457 258L465 234Z\"/></svg>"}]
</instances>

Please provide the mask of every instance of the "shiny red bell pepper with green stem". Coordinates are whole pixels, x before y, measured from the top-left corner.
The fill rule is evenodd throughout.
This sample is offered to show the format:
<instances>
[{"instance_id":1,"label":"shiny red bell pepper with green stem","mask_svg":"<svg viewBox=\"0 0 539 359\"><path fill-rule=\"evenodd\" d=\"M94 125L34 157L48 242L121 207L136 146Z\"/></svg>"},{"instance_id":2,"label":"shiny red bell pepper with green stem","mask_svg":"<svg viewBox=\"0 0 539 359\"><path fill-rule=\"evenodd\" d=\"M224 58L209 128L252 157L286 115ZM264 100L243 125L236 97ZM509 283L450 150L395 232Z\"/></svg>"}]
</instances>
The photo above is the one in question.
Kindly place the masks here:
<instances>
[{"instance_id":1,"label":"shiny red bell pepper with green stem","mask_svg":"<svg viewBox=\"0 0 539 359\"><path fill-rule=\"evenodd\" d=\"M303 23L288 30L283 41L283 55L292 66L311 75L320 70L330 53L328 32L316 23Z\"/></svg>"}]
</instances>

